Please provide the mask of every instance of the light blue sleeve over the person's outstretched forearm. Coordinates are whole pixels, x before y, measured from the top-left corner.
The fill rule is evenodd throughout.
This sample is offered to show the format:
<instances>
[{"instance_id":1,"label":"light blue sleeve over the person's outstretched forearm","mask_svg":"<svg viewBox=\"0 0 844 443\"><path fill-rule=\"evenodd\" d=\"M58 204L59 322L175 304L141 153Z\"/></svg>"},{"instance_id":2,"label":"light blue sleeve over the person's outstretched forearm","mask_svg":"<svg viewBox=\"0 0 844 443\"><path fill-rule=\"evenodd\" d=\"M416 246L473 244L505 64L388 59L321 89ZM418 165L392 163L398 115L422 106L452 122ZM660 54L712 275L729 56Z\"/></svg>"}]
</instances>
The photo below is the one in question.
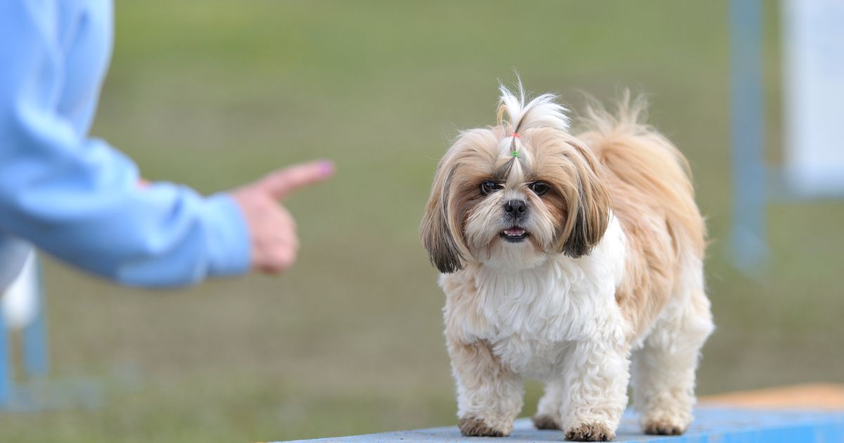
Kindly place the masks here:
<instances>
[{"instance_id":1,"label":"light blue sleeve over the person's outstretched forearm","mask_svg":"<svg viewBox=\"0 0 844 443\"><path fill-rule=\"evenodd\" d=\"M129 170L62 175L62 162L42 157L24 167L0 157L0 226L74 266L141 286L192 284L249 267L249 235L228 195L138 187ZM121 160L104 165L126 168Z\"/></svg>"}]
</instances>

